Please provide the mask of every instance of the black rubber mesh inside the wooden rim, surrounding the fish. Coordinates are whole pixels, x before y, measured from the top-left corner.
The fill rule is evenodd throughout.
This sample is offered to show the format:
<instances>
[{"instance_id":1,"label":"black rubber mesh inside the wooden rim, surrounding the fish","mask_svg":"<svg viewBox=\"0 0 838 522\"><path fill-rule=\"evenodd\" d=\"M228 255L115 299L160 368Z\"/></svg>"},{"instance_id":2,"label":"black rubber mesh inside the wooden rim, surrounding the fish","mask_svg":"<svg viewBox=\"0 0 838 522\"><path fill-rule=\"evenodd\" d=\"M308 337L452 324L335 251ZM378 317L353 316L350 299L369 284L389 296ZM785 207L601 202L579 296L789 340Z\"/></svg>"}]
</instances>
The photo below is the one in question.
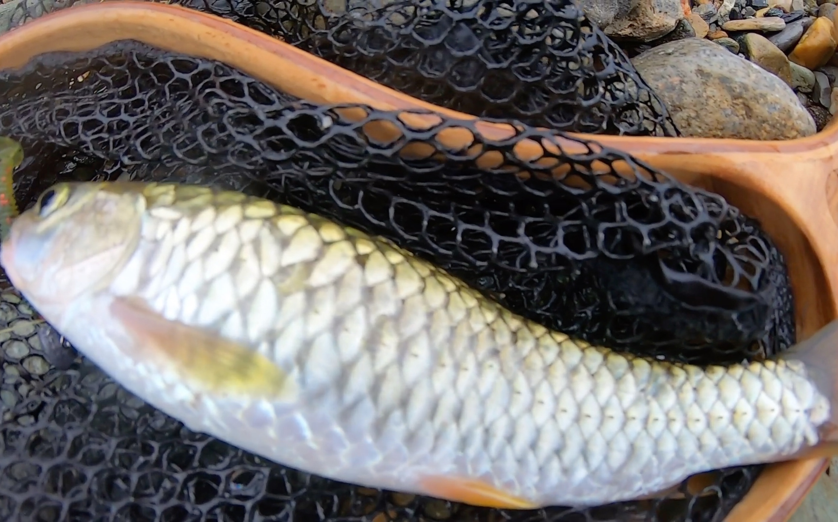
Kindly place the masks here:
<instances>
[{"instance_id":1,"label":"black rubber mesh inside the wooden rim, surrounding the fish","mask_svg":"<svg viewBox=\"0 0 838 522\"><path fill-rule=\"evenodd\" d=\"M610 59L606 48L595 56ZM535 129L514 110L520 120L503 141L468 120L411 125L404 113L360 106L363 116L350 119L225 64L137 42L40 56L0 74L0 89L0 134L26 151L23 208L56 179L127 171L211 183L383 234L521 315L617 349L726 363L794 339L784 260L757 223L722 197ZM597 110L608 113L608 102ZM440 146L435 138L452 128L470 133L468 148ZM542 147L529 161L514 153L520 141L556 137L582 152ZM627 168L632 175L620 173ZM28 305L12 292L3 299L11 330L0 332L0 519L709 521L760 469L725 470L680 499L524 512L336 484L189 432L89 362L68 364L55 341L16 319L33 315Z\"/></svg>"}]
</instances>

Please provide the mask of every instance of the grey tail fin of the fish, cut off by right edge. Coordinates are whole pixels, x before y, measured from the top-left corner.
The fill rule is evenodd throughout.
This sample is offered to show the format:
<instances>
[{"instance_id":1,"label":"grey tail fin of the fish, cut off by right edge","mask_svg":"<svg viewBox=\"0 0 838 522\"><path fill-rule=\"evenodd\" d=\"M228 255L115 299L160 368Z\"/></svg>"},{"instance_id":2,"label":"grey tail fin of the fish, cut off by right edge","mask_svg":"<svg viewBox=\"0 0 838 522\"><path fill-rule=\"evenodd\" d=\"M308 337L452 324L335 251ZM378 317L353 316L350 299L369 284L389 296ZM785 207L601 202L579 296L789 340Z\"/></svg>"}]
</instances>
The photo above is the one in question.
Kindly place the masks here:
<instances>
[{"instance_id":1,"label":"grey tail fin of the fish, cut off by right edge","mask_svg":"<svg viewBox=\"0 0 838 522\"><path fill-rule=\"evenodd\" d=\"M779 358L803 362L810 381L830 402L830 417L820 427L821 442L810 448L806 457L838 455L838 319L792 346Z\"/></svg>"}]
</instances>

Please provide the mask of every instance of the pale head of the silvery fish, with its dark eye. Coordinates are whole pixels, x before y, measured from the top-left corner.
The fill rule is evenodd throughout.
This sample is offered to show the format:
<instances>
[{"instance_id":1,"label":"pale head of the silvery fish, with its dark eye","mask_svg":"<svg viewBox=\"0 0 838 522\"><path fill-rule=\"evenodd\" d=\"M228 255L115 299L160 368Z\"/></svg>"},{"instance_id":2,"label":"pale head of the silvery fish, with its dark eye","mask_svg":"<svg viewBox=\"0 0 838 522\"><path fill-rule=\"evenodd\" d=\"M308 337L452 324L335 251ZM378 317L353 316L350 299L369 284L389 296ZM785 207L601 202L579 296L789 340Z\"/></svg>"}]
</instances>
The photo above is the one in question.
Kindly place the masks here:
<instances>
[{"instance_id":1,"label":"pale head of the silvery fish, with its dark eye","mask_svg":"<svg viewBox=\"0 0 838 522\"><path fill-rule=\"evenodd\" d=\"M12 223L0 264L50 321L105 289L137 249L147 202L131 183L58 183Z\"/></svg>"}]
</instances>

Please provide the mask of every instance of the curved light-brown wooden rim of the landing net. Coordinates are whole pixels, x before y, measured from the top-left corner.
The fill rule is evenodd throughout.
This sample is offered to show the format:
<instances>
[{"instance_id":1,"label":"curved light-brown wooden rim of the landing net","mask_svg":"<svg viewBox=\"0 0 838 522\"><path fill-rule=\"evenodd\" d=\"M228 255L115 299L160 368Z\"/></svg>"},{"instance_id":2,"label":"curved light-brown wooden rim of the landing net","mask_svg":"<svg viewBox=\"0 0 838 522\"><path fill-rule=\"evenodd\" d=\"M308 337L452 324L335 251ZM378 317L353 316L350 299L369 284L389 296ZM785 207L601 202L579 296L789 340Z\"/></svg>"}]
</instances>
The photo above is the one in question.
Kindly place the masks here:
<instances>
[{"instance_id":1,"label":"curved light-brown wooden rim of the landing net","mask_svg":"<svg viewBox=\"0 0 838 522\"><path fill-rule=\"evenodd\" d=\"M123 39L219 60L304 100L361 103L381 110L424 109L455 119L476 119L376 84L241 24L162 3L119 0L45 15L0 36L0 69L17 69L38 54L87 51ZM508 125L482 120L476 125L488 139L511 135ZM795 266L791 270L795 294L803 289L808 298L799 299L804 308L798 312L799 336L808 337L838 317L838 125L792 141L575 136L627 152L685 182L718 192L742 212L783 214L763 225L789 265ZM447 139L457 146L462 135ZM556 145L571 153L585 151L576 141L556 139ZM516 147L516 153L537 157L541 145L528 141ZM818 290L824 294L824 288L830 292L819 297ZM819 458L769 465L727 522L788 520L826 464Z\"/></svg>"}]
</instances>

